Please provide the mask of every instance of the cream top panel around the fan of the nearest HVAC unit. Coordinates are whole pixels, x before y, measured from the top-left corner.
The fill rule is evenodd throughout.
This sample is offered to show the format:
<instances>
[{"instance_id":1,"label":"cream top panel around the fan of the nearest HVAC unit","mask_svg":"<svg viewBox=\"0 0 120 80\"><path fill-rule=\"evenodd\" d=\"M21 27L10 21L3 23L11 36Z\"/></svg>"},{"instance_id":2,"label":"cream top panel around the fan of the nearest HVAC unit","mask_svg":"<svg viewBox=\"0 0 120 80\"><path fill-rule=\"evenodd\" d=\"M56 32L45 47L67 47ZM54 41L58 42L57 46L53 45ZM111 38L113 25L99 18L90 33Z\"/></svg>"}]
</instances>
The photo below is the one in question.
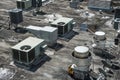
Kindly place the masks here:
<instances>
[{"instance_id":1,"label":"cream top panel around the fan of the nearest HVAC unit","mask_svg":"<svg viewBox=\"0 0 120 80\"><path fill-rule=\"evenodd\" d=\"M12 49L28 52L31 49L35 48L40 43L42 43L43 41L44 41L43 39L39 39L39 38L35 38L35 37L28 37L25 40L21 41L20 43L16 44L15 46L13 46ZM21 47L25 46L25 45L30 46L31 48L28 50L21 50Z\"/></svg>"}]
</instances>

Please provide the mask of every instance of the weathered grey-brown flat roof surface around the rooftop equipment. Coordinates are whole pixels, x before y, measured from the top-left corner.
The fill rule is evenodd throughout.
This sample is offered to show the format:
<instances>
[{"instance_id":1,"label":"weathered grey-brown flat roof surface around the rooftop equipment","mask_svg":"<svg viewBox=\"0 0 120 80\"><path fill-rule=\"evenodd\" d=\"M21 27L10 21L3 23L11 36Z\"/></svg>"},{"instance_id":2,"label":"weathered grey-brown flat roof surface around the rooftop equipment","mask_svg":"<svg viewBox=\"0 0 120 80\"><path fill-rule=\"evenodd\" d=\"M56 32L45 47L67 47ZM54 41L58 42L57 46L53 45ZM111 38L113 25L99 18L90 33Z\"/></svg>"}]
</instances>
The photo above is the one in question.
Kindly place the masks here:
<instances>
[{"instance_id":1,"label":"weathered grey-brown flat roof surface around the rooftop equipment","mask_svg":"<svg viewBox=\"0 0 120 80\"><path fill-rule=\"evenodd\" d=\"M49 0L47 0L49 1ZM46 1L46 2L47 2ZM85 0L88 1L88 0ZM97 1L97 0L96 0ZM94 67L94 73L99 73L98 68L103 69L103 63L101 60L105 60L106 58L112 59L112 62L119 63L120 62L120 55L117 54L117 48L114 44L115 33L117 33L116 30L113 29L113 24L111 22L113 21L114 13L107 13L103 12L102 15L105 17L109 17L107 19L102 19L102 15L99 15L98 11L94 11L87 8L88 2L81 2L80 6L83 9L71 9L69 7L68 0L54 0L54 2L45 3L46 6L41 7L42 11L47 14L45 15L32 15L32 10L24 11L24 22L18 27L29 26L29 25L35 25L44 27L46 25L49 25L49 21L46 21L48 19L51 19L53 17L49 17L49 15L56 14L56 18L59 19L59 15L62 15L64 17L68 18L74 18L74 21L76 22L77 26L74 27L74 31L70 32L68 36L65 36L64 38L60 38L57 40L57 46L53 48L48 48L45 50L46 56L42 58L42 63L39 65L33 66L33 68L30 70L26 70L26 68L17 68L17 66L14 65L12 60L12 52L9 47L14 46L18 40L27 38L29 36L32 36L31 33L17 33L13 29L8 29L8 23L6 25L1 26L0 31L0 63L3 65L3 68L7 69L13 69L13 75L10 76L11 80L74 80L71 78L71 76L68 75L66 70L71 64L78 65L79 59L77 60L72 56L72 53L74 51L74 48L76 46L88 46L92 48L92 40L94 34L92 32L96 32L98 30L103 30L106 33L106 52L110 53L106 54L106 56L102 55L96 55L95 53L91 52L92 56L92 62L90 69L93 69ZM16 0L1 0L0 1L0 23L6 23L7 17L9 15L6 11L9 9L13 9L16 7ZM117 6L117 5L116 5ZM80 7L79 7L80 8ZM95 14L93 17L94 19L88 20L81 16L82 13L84 14L86 11L89 13ZM48 16L46 16L48 15ZM99 20L102 20L99 22ZM80 23L88 22L88 27L90 25L90 31L85 31L80 29ZM92 23L94 22L94 23ZM94 28L95 25L100 25L100 27ZM94 45L93 45L94 47ZM100 54L102 51L100 51ZM104 54L103 54L104 55ZM110 57L108 57L110 56ZM113 59L113 57L115 57ZM40 58L41 59L41 58ZM37 62L37 61L36 61ZM38 60L39 62L39 60ZM119 65L119 64L117 64ZM2 68L2 66L1 66ZM17 72L16 72L17 71ZM106 76L107 80L120 80L120 70L112 70L114 77ZM7 73L5 73L7 74ZM94 74L94 75L95 75ZM22 75L22 76L21 76ZM94 76L93 75L93 76ZM99 76L99 74L96 74ZM97 77L97 76L94 77ZM4 76L3 76L4 77ZM1 78L2 80L9 80L9 78ZM0 79L0 80L1 80Z\"/></svg>"}]
</instances>

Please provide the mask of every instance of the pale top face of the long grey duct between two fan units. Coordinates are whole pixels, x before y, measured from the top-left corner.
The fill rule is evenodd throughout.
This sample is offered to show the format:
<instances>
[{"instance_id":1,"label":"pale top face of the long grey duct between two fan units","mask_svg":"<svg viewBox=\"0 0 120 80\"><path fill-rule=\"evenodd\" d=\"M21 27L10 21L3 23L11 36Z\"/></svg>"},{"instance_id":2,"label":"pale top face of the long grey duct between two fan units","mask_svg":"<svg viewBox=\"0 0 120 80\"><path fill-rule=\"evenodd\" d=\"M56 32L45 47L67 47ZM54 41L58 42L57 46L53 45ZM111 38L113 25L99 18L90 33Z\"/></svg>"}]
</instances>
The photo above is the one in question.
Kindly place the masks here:
<instances>
[{"instance_id":1,"label":"pale top face of the long grey duct between two fan units","mask_svg":"<svg viewBox=\"0 0 120 80\"><path fill-rule=\"evenodd\" d=\"M28 26L27 29L32 29L32 30L38 30L38 31L47 31L47 32L53 32L56 31L57 28L51 27L51 26L45 26L45 27L38 27L38 26Z\"/></svg>"}]
</instances>

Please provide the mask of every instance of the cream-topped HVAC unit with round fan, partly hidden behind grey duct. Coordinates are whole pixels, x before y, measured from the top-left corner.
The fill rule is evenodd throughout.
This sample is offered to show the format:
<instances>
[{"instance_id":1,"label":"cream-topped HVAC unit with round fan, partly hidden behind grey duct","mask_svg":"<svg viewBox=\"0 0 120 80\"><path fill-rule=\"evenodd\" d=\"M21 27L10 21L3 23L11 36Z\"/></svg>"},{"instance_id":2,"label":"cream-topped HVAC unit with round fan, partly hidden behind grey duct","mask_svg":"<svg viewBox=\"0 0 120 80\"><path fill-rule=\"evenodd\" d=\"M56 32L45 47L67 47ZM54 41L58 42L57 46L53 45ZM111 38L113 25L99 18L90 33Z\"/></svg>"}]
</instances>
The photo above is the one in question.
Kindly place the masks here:
<instances>
[{"instance_id":1,"label":"cream-topped HVAC unit with round fan, partly hidden behind grey duct","mask_svg":"<svg viewBox=\"0 0 120 80\"><path fill-rule=\"evenodd\" d=\"M73 29L73 18L59 18L52 22L51 26L58 28L58 36L64 36Z\"/></svg>"}]
</instances>

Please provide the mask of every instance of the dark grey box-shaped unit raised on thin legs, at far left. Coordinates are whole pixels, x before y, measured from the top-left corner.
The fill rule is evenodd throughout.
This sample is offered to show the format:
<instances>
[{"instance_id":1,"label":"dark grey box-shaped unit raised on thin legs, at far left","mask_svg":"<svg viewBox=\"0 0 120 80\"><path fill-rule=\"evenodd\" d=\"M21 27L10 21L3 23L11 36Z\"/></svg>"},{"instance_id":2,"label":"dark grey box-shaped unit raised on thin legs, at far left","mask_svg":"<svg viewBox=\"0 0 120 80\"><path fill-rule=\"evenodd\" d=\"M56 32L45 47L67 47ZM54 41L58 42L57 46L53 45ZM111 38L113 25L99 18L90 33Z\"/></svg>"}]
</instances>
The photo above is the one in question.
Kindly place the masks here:
<instances>
[{"instance_id":1,"label":"dark grey box-shaped unit raised on thin legs, at far left","mask_svg":"<svg viewBox=\"0 0 120 80\"><path fill-rule=\"evenodd\" d=\"M9 10L9 16L11 23L19 24L23 21L23 15L21 9Z\"/></svg>"}]
</instances>

